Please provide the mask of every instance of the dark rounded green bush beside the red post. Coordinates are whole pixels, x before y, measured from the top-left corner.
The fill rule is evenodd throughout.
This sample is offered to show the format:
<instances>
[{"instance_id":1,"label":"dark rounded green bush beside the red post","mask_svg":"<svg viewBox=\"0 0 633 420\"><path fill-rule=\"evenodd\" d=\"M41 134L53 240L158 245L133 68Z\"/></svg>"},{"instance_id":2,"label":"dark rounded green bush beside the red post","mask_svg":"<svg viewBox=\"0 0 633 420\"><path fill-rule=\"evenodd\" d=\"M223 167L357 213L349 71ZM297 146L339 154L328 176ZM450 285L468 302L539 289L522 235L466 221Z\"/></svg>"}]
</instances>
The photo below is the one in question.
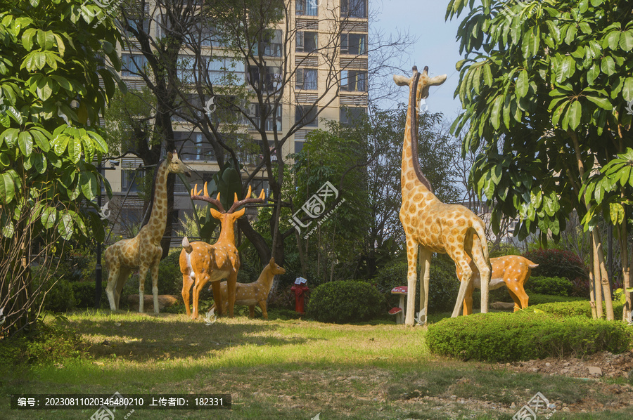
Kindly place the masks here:
<instances>
[{"instance_id":1,"label":"dark rounded green bush beside the red post","mask_svg":"<svg viewBox=\"0 0 633 420\"><path fill-rule=\"evenodd\" d=\"M308 317L321 322L362 322L381 315L383 296L376 287L357 280L321 284L311 292Z\"/></svg>"}]
</instances>

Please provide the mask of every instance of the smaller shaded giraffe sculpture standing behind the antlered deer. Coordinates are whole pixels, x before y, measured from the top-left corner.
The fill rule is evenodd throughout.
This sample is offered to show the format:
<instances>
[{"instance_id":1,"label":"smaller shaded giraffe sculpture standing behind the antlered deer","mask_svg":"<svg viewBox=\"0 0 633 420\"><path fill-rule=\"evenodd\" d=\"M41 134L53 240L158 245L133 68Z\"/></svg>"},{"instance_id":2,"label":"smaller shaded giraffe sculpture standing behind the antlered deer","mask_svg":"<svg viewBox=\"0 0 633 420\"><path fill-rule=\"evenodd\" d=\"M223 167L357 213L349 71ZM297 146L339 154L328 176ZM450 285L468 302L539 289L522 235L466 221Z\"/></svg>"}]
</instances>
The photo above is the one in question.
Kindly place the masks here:
<instances>
[{"instance_id":1,"label":"smaller shaded giraffe sculpture standing behind the antlered deer","mask_svg":"<svg viewBox=\"0 0 633 420\"><path fill-rule=\"evenodd\" d=\"M132 239L122 239L106 249L105 260L108 266L106 294L111 310L119 308L123 285L132 270L139 268L139 312L144 312L145 277L151 269L154 312L158 313L158 263L162 256L160 239L162 235L165 235L167 227L167 175L170 173L184 173L186 176L191 176L185 164L178 158L176 150L167 153L167 159L158 164L154 173L151 215L148 223L143 225L139 235Z\"/></svg>"}]
</instances>

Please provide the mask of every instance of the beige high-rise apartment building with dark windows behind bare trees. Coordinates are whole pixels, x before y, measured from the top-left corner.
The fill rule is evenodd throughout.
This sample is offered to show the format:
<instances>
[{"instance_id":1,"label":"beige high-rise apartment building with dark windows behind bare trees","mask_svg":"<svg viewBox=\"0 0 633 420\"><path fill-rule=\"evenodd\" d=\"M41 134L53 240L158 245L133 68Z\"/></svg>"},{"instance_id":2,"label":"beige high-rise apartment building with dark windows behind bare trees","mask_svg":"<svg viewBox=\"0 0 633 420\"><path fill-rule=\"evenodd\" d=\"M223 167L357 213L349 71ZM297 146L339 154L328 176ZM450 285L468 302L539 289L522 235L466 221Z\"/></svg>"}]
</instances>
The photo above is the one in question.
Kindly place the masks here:
<instances>
[{"instance_id":1,"label":"beige high-rise apartment building with dark windows behind bare trees","mask_svg":"<svg viewBox=\"0 0 633 420\"><path fill-rule=\"evenodd\" d=\"M200 37L192 41L198 42L200 48L212 50L205 77L214 86L250 81L265 84L266 90L271 90L276 88L275 84L282 72L290 72L278 112L264 122L265 130L271 136L275 129L283 136L288 130L296 129L295 123L305 122L283 145L281 152L286 159L288 155L302 149L310 131L325 128L324 120L347 124L354 116L366 112L369 83L367 2L368 0L290 0L286 5L288 11L292 12L288 13L290 22L283 21L271 28L274 29L274 34L264 44L255 46L255 55L259 52L259 47L267 58L264 74L260 74L260 67L248 60L236 60L229 53L229 48L224 51L226 44L220 28L202 27ZM152 5L147 7L149 12ZM160 13L154 11L152 14L160 19ZM148 30L155 31L155 36L160 38L160 25L154 25L154 29ZM140 51L135 51L134 45L119 48L124 67L121 72L122 80L129 89L143 88L145 82L134 69L146 65L146 58ZM179 66L178 77L181 80L193 77L188 60L191 57L187 51L183 51L179 55L181 67ZM259 106L257 103L245 104L252 116L259 114ZM259 123L257 118L255 122ZM249 169L254 169L260 162L259 159L262 159L262 136L255 130L252 122L238 118L238 125L238 135L250 140L251 146L255 144L260 148L237 148L241 162ZM177 116L172 119L172 128L180 157L194 174L191 184L209 181L219 170L219 166L205 135ZM120 214L117 223L121 225L134 225L143 216L143 200L138 194L143 173L139 171L141 164L141 159L127 155L120 159L118 166L105 173L114 195L110 209ZM253 187L255 192L262 188L267 189L267 181L263 176L256 176ZM188 191L178 178L175 195L172 214L174 221L182 220L183 213L190 212L192 208ZM124 233L121 227L115 230Z\"/></svg>"}]
</instances>

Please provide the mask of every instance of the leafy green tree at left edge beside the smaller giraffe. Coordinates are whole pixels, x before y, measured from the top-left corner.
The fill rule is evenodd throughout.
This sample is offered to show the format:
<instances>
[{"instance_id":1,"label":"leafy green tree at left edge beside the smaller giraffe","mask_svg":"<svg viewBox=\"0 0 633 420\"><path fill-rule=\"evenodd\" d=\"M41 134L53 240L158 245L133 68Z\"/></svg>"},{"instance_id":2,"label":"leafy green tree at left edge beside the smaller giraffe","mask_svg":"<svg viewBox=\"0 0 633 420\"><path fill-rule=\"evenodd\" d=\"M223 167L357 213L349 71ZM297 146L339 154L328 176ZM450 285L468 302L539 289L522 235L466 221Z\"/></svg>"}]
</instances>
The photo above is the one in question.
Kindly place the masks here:
<instances>
[{"instance_id":1,"label":"leafy green tree at left edge beside the smaller giraffe","mask_svg":"<svg viewBox=\"0 0 633 420\"><path fill-rule=\"evenodd\" d=\"M42 275L67 241L103 240L89 210L100 181L109 185L91 162L108 147L92 124L117 81L106 58L120 63L113 21L85 13L99 10L80 0L0 1L0 336L39 313L34 263Z\"/></svg>"}]
</instances>

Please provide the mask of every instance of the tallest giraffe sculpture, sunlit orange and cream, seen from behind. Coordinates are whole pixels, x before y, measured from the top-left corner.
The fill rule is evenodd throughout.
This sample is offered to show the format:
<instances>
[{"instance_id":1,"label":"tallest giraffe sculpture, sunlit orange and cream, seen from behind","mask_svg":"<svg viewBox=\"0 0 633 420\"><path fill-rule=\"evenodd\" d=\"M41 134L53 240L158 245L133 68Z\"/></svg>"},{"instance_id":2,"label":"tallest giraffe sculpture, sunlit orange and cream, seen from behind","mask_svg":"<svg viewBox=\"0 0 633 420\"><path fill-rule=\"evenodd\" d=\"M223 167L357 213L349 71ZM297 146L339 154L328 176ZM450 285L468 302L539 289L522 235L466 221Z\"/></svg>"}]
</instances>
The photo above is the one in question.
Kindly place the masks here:
<instances>
[{"instance_id":1,"label":"tallest giraffe sculpture, sunlit orange and cream, seen from behind","mask_svg":"<svg viewBox=\"0 0 633 420\"><path fill-rule=\"evenodd\" d=\"M421 261L420 278L423 283L420 285L420 310L424 322L428 305L430 258L435 252L449 254L461 269L462 282L452 317L459 314L468 284L473 282L473 270L469 264L471 259L481 275L481 312L487 313L491 269L484 224L466 207L440 202L433 194L433 188L422 173L418 161L417 105L421 99L428 97L429 86L444 83L446 74L428 77L428 67L424 67L421 73L418 73L417 67L413 67L413 77L394 75L393 79L398 86L409 86L410 89L402 146L402 206L399 214L407 237L409 291L404 324L414 324L418 251Z\"/></svg>"}]
</instances>

